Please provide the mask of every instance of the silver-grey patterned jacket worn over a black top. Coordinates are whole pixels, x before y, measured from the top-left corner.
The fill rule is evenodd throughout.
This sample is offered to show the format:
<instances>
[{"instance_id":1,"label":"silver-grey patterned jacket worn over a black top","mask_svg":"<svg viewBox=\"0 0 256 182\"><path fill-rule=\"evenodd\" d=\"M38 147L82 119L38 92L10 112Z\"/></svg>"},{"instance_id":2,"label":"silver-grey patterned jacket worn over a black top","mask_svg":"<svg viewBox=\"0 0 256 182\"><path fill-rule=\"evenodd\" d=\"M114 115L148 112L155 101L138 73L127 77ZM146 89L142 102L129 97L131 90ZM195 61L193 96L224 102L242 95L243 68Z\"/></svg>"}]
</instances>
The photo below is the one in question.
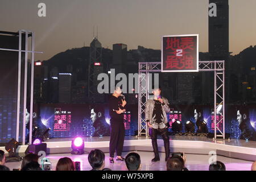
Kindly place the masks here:
<instances>
[{"instance_id":1,"label":"silver-grey patterned jacket worn over a black top","mask_svg":"<svg viewBox=\"0 0 256 182\"><path fill-rule=\"evenodd\" d=\"M170 107L168 106L169 102L167 98L163 98L164 105L162 105L162 110L163 110L163 116L164 116L164 122L162 125L159 125L160 129L163 129L166 127L166 124L168 122L167 115L166 113L170 112ZM145 108L145 120L150 122L150 125L152 125L153 129L157 129L158 125L156 125L152 121L152 114L155 106L155 101L154 100L147 100L146 102L146 108Z\"/></svg>"}]
</instances>

